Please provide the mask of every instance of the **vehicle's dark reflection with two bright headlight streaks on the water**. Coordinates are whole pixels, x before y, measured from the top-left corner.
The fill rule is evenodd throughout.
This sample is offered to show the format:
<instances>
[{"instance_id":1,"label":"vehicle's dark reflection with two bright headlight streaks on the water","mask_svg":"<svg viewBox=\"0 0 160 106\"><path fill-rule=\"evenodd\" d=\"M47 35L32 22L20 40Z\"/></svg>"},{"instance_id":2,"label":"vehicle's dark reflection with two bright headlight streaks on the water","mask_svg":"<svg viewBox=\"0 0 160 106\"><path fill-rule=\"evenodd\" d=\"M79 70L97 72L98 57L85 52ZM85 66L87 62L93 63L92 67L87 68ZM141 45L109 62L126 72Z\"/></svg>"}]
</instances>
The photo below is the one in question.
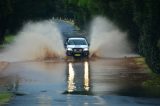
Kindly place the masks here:
<instances>
[{"instance_id":1,"label":"vehicle's dark reflection with two bright headlight streaks on the water","mask_svg":"<svg viewBox=\"0 0 160 106\"><path fill-rule=\"evenodd\" d=\"M91 94L88 61L67 63L67 90L65 94Z\"/></svg>"}]
</instances>

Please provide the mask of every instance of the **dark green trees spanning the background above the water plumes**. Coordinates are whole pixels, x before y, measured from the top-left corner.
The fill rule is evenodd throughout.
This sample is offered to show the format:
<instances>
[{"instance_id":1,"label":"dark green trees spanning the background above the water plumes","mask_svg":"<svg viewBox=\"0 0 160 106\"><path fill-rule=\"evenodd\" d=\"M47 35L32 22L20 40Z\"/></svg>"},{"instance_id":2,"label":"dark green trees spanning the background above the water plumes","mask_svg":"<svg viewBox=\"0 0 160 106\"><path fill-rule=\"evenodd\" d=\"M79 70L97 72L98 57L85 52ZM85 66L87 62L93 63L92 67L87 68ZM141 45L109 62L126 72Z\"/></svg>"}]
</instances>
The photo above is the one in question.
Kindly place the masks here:
<instances>
[{"instance_id":1,"label":"dark green trees spanning the background above the water plumes","mask_svg":"<svg viewBox=\"0 0 160 106\"><path fill-rule=\"evenodd\" d=\"M160 72L160 0L0 0L0 43L28 20L54 16L83 26L96 15L107 16L127 31L137 52Z\"/></svg>"}]
</instances>

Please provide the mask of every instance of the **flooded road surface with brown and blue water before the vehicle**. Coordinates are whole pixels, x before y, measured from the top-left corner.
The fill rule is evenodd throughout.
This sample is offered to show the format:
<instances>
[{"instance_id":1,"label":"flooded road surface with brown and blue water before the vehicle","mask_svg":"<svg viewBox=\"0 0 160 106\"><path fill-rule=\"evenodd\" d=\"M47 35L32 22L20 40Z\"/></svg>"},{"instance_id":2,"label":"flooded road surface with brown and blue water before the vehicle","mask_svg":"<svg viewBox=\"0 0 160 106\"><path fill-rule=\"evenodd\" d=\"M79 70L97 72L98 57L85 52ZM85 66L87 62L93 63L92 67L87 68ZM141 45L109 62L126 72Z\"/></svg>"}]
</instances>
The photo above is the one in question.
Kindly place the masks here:
<instances>
[{"instance_id":1,"label":"flooded road surface with brown and blue water before the vehicle","mask_svg":"<svg viewBox=\"0 0 160 106\"><path fill-rule=\"evenodd\" d=\"M7 106L159 106L147 78L132 59L46 60L10 63L0 83L15 94Z\"/></svg>"}]
</instances>

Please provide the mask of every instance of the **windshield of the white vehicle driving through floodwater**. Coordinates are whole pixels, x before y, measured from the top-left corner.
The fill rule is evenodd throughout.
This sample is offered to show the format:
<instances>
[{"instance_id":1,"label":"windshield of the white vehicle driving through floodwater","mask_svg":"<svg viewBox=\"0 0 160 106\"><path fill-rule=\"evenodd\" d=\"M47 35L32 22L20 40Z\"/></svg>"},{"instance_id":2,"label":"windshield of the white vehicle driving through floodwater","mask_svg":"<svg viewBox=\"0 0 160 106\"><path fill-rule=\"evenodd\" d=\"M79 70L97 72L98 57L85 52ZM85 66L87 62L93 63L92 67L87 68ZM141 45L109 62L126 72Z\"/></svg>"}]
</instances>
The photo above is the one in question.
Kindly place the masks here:
<instances>
[{"instance_id":1,"label":"windshield of the white vehicle driving through floodwater","mask_svg":"<svg viewBox=\"0 0 160 106\"><path fill-rule=\"evenodd\" d=\"M68 45L87 45L84 39L71 39L68 41Z\"/></svg>"}]
</instances>

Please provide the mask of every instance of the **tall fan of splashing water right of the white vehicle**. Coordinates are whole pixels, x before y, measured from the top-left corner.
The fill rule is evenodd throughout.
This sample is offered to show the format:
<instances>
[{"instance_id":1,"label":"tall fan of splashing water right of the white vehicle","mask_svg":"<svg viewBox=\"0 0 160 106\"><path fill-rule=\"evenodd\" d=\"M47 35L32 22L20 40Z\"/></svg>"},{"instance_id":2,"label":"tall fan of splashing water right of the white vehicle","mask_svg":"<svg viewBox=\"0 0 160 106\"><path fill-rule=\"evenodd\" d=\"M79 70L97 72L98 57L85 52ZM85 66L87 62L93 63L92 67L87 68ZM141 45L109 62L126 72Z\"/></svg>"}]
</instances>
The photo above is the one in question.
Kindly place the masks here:
<instances>
[{"instance_id":1,"label":"tall fan of splashing water right of the white vehicle","mask_svg":"<svg viewBox=\"0 0 160 106\"><path fill-rule=\"evenodd\" d=\"M122 57L130 52L127 34L104 17L96 17L90 29L90 56Z\"/></svg>"}]
</instances>

